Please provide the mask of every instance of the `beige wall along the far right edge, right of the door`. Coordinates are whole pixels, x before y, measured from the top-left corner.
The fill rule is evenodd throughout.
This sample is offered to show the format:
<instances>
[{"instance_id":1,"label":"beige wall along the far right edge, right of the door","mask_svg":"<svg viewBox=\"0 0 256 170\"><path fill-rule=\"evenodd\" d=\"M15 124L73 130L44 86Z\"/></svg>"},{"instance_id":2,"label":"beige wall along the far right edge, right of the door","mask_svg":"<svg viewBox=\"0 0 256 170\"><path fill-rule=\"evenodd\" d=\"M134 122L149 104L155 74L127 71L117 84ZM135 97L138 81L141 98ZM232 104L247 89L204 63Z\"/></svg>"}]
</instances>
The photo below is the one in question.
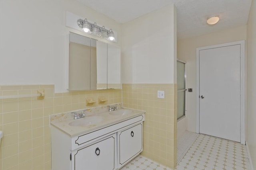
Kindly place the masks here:
<instances>
[{"instance_id":1,"label":"beige wall along the far right edge, right of the door","mask_svg":"<svg viewBox=\"0 0 256 170\"><path fill-rule=\"evenodd\" d=\"M247 128L246 144L248 145L250 160L256 169L256 1L252 6L247 23Z\"/></svg>"}]
</instances>

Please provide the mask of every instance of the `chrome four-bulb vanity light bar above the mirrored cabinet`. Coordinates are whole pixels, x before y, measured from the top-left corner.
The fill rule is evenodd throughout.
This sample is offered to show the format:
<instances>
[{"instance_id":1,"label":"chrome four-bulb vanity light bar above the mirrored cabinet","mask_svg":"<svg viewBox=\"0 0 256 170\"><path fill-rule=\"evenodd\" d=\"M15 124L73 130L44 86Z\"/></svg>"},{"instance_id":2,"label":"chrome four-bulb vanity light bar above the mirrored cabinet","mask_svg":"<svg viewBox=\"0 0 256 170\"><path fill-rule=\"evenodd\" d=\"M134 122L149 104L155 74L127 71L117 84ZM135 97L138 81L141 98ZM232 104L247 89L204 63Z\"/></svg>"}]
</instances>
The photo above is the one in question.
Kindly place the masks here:
<instances>
[{"instance_id":1,"label":"chrome four-bulb vanity light bar above the mirrored cabinet","mask_svg":"<svg viewBox=\"0 0 256 170\"><path fill-rule=\"evenodd\" d=\"M77 20L77 25L83 29L84 32L90 33L91 35L98 36L109 41L115 41L114 32L112 29L108 30L104 26L99 27L96 22L90 23L87 19Z\"/></svg>"}]
</instances>

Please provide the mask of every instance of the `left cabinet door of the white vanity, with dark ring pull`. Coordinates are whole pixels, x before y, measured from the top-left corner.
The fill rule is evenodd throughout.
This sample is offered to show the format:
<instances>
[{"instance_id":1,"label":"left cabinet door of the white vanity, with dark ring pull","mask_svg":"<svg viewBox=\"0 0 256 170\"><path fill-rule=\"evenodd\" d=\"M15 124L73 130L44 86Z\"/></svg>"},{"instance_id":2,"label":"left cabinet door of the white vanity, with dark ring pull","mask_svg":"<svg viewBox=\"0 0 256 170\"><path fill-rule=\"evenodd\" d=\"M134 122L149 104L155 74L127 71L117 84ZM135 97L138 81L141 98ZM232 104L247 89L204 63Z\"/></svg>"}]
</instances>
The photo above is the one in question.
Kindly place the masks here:
<instances>
[{"instance_id":1,"label":"left cabinet door of the white vanity, with dark ring pull","mask_svg":"<svg viewBox=\"0 0 256 170\"><path fill-rule=\"evenodd\" d=\"M114 170L116 134L74 150L73 170Z\"/></svg>"}]
</instances>

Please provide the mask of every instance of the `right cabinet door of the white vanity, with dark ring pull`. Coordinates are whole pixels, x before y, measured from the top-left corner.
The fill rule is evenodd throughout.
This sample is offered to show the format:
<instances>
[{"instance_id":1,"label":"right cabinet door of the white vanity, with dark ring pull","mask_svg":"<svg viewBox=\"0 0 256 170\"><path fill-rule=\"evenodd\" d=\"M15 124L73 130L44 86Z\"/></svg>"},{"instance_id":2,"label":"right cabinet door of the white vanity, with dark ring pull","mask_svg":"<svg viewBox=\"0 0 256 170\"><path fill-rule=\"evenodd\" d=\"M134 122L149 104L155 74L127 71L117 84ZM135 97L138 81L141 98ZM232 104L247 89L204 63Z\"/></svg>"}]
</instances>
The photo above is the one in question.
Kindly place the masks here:
<instances>
[{"instance_id":1,"label":"right cabinet door of the white vanity, with dark ring pull","mask_svg":"<svg viewBox=\"0 0 256 170\"><path fill-rule=\"evenodd\" d=\"M118 167L142 152L142 123L118 132Z\"/></svg>"}]
</instances>

